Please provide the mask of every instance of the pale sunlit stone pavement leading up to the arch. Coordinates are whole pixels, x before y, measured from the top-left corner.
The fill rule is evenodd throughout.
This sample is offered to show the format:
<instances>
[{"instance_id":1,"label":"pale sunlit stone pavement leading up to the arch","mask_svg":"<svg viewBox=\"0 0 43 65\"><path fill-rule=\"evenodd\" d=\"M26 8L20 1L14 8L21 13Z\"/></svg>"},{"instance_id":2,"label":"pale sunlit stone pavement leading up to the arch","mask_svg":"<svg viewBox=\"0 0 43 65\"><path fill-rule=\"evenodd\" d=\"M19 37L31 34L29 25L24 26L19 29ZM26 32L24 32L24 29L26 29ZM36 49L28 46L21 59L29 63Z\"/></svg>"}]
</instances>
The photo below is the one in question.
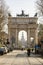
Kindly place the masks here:
<instances>
[{"instance_id":1,"label":"pale sunlit stone pavement leading up to the arch","mask_svg":"<svg viewBox=\"0 0 43 65\"><path fill-rule=\"evenodd\" d=\"M14 50L0 56L0 65L43 65L43 58L34 54L28 57L26 51Z\"/></svg>"}]
</instances>

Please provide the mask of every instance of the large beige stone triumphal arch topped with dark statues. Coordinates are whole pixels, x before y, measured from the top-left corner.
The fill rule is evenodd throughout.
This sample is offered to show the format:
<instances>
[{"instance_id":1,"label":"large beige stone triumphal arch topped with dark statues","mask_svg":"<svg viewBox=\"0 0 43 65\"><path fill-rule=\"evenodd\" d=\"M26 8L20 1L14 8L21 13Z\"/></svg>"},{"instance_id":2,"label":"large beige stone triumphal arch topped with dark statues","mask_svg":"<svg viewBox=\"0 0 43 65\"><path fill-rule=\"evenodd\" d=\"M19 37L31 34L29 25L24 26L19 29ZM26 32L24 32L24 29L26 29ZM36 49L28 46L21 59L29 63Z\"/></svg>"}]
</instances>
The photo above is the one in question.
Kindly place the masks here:
<instances>
[{"instance_id":1,"label":"large beige stone triumphal arch topped with dark statues","mask_svg":"<svg viewBox=\"0 0 43 65\"><path fill-rule=\"evenodd\" d=\"M18 43L18 33L21 30L27 32L27 46L30 45L31 41L30 38L34 38L33 45L38 43L38 33L37 33L37 17L29 17L29 15L24 14L24 11L19 15L17 14L16 17L9 16L8 21L8 33L9 33L9 40L13 42L17 47L19 46Z\"/></svg>"}]
</instances>

